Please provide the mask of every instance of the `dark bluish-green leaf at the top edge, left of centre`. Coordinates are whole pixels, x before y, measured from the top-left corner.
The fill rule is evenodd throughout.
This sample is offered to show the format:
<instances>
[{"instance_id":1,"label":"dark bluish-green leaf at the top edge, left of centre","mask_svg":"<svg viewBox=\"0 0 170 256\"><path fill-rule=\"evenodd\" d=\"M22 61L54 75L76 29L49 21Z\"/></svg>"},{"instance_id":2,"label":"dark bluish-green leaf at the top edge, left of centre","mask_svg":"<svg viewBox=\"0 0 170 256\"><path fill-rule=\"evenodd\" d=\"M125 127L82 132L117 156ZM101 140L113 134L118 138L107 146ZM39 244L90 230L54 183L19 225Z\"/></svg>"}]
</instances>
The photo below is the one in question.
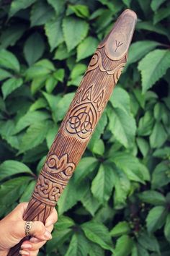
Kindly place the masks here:
<instances>
[{"instance_id":1,"label":"dark bluish-green leaf at the top edge, left of centre","mask_svg":"<svg viewBox=\"0 0 170 256\"><path fill-rule=\"evenodd\" d=\"M49 4L46 4L45 1L37 1L31 11L31 27L44 25L53 15L53 8Z\"/></svg>"}]
</instances>

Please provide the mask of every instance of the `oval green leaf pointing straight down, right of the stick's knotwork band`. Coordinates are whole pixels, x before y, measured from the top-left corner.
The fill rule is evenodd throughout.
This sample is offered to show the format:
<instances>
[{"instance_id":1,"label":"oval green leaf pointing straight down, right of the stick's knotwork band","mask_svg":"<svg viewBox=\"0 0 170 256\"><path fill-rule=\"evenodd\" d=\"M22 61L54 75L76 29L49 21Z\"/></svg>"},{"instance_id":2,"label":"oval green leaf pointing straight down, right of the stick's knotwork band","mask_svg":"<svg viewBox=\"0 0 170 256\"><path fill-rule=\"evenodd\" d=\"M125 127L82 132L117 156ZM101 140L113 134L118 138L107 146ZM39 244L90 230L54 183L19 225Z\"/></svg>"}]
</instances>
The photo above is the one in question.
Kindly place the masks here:
<instances>
[{"instance_id":1,"label":"oval green leaf pointing straight down, right of the stick's knotwork band","mask_svg":"<svg viewBox=\"0 0 170 256\"><path fill-rule=\"evenodd\" d=\"M110 166L101 164L97 176L91 184L91 192L99 202L107 202L111 196L112 189L115 185L114 171Z\"/></svg>"}]
</instances>

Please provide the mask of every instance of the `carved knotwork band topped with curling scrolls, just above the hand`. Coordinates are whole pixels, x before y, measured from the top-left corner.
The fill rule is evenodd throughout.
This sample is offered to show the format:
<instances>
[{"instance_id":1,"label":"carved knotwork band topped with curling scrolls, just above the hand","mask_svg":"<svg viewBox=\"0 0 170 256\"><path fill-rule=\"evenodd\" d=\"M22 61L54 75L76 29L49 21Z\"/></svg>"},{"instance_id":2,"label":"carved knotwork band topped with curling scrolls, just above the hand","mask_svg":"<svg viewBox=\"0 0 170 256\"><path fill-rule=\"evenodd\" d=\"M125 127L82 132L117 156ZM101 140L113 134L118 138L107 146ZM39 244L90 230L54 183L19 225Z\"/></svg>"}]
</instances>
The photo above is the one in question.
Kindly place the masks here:
<instances>
[{"instance_id":1,"label":"carved knotwork band topped with curling scrolls, just above the hand","mask_svg":"<svg viewBox=\"0 0 170 256\"><path fill-rule=\"evenodd\" d=\"M49 155L32 196L48 205L55 205L74 168L75 164L68 162L67 154L62 155L61 158L55 154Z\"/></svg>"}]
</instances>

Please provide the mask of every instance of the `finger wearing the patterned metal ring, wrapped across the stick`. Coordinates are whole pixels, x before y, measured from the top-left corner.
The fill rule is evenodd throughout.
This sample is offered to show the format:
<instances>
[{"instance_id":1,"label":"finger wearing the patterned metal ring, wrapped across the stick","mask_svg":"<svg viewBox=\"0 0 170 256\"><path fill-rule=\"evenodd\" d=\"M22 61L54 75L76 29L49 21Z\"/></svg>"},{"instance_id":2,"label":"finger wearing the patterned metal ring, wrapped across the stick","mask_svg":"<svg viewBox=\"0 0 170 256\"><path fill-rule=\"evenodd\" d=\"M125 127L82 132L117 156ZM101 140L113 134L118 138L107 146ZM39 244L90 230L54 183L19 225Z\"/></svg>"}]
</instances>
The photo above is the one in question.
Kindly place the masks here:
<instances>
[{"instance_id":1,"label":"finger wearing the patterned metal ring, wrapped across the stick","mask_svg":"<svg viewBox=\"0 0 170 256\"><path fill-rule=\"evenodd\" d=\"M15 236L22 239L25 235L25 223L26 221L17 221L15 223ZM35 236L38 239L49 240L52 238L50 232L45 229L44 224L41 221L32 221L30 236Z\"/></svg>"}]
</instances>

